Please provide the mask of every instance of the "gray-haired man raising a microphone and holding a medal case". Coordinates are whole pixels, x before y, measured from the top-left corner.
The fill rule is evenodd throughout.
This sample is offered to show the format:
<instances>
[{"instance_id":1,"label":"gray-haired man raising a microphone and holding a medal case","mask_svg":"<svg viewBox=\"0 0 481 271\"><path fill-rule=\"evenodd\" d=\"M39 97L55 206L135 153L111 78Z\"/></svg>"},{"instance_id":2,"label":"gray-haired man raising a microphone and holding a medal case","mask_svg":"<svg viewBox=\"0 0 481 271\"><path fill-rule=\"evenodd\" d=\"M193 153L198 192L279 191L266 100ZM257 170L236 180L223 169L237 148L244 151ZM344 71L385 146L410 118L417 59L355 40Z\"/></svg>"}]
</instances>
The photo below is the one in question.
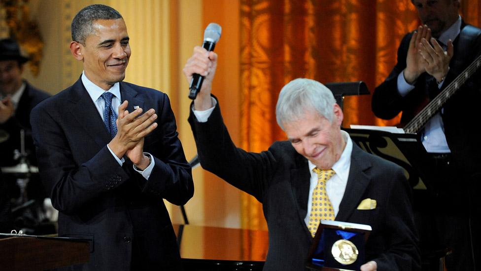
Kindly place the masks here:
<instances>
[{"instance_id":1,"label":"gray-haired man raising a microphone and holding a medal case","mask_svg":"<svg viewBox=\"0 0 481 271\"><path fill-rule=\"evenodd\" d=\"M194 73L205 76L189 122L201 165L263 204L269 228L264 270L304 270L319 217L372 226L368 262L361 270L417 270L410 187L403 171L353 144L340 129L344 116L332 92L310 79L285 85L276 116L289 141L248 153L230 139L210 95L216 63L215 53L198 46L184 68L189 81ZM325 172L332 176L326 183L320 180ZM328 197L318 198L319 193ZM319 204L330 208L320 210Z\"/></svg>"}]
</instances>

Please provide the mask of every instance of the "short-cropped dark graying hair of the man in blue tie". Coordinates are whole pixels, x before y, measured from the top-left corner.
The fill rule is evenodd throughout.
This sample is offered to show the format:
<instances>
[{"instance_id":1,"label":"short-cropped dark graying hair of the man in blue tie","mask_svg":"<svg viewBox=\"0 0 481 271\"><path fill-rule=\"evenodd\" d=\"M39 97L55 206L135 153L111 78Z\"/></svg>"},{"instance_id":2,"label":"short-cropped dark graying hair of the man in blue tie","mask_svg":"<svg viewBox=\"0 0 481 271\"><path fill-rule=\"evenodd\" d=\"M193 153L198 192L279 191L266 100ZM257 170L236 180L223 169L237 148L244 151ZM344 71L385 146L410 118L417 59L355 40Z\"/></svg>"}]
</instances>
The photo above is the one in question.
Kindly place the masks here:
<instances>
[{"instance_id":1,"label":"short-cropped dark graying hair of the man in blue tie","mask_svg":"<svg viewBox=\"0 0 481 271\"><path fill-rule=\"evenodd\" d=\"M94 21L122 19L120 13L106 5L93 4L82 8L72 20L72 40L85 44L87 36L94 32Z\"/></svg>"}]
</instances>

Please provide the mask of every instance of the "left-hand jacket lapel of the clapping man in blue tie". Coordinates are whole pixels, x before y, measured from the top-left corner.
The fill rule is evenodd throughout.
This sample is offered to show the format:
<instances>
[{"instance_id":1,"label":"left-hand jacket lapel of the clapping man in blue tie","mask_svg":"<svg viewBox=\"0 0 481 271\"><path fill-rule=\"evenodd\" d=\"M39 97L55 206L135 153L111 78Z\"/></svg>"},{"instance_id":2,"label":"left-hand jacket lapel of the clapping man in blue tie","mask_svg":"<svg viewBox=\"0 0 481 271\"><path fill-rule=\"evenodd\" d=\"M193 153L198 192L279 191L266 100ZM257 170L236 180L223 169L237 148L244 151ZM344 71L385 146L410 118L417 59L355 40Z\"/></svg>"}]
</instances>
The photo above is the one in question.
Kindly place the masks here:
<instances>
[{"instance_id":1,"label":"left-hand jacket lapel of the clapping man in blue tie","mask_svg":"<svg viewBox=\"0 0 481 271\"><path fill-rule=\"evenodd\" d=\"M69 102L71 103L69 109L76 123L85 129L99 147L108 144L111 140L110 135L81 79L73 84Z\"/></svg>"}]
</instances>

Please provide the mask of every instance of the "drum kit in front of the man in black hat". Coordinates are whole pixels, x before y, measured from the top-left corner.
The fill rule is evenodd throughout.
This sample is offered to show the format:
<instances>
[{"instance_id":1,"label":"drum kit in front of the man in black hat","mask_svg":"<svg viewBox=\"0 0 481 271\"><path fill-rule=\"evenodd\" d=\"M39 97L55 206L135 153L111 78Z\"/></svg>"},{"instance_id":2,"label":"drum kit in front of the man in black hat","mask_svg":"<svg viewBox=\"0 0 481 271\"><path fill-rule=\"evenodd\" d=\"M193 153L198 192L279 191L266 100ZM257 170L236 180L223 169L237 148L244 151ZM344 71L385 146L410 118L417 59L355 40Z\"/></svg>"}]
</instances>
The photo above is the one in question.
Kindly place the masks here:
<instances>
[{"instance_id":1,"label":"drum kit in front of the man in black hat","mask_svg":"<svg viewBox=\"0 0 481 271\"><path fill-rule=\"evenodd\" d=\"M0 143L6 141L8 137L9 134L7 132L0 130ZM24 130L21 130L20 150L15 150L13 154L13 158L15 161L18 161L18 164L1 167L2 180L14 180L19 190L19 196L12 198L11 211L14 218L14 227L19 227L17 230L30 234L55 233L55 222L47 217L47 213L51 213L53 207L51 203L49 206L44 206L44 203L48 203L50 200L42 199L43 202L39 202L38 198L29 198L28 192L32 190L29 190L29 183L39 182L40 178L38 176L38 167L30 164L28 156L25 150L25 133ZM38 184L34 184L32 187L38 187Z\"/></svg>"}]
</instances>

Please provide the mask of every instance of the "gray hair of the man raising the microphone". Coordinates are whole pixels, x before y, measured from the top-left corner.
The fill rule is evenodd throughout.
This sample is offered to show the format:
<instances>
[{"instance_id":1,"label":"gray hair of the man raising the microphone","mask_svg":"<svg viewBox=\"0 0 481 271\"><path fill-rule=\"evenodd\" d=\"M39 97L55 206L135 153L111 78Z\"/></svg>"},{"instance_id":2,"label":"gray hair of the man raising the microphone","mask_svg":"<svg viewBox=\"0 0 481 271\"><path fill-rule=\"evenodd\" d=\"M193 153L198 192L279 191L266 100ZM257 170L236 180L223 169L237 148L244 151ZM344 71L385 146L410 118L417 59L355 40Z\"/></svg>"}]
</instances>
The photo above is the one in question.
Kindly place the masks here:
<instances>
[{"instance_id":1,"label":"gray hair of the man raising the microphone","mask_svg":"<svg viewBox=\"0 0 481 271\"><path fill-rule=\"evenodd\" d=\"M280 90L275 106L277 124L284 130L284 124L303 117L310 110L332 123L335 103L334 95L325 85L307 78L294 79Z\"/></svg>"}]
</instances>

